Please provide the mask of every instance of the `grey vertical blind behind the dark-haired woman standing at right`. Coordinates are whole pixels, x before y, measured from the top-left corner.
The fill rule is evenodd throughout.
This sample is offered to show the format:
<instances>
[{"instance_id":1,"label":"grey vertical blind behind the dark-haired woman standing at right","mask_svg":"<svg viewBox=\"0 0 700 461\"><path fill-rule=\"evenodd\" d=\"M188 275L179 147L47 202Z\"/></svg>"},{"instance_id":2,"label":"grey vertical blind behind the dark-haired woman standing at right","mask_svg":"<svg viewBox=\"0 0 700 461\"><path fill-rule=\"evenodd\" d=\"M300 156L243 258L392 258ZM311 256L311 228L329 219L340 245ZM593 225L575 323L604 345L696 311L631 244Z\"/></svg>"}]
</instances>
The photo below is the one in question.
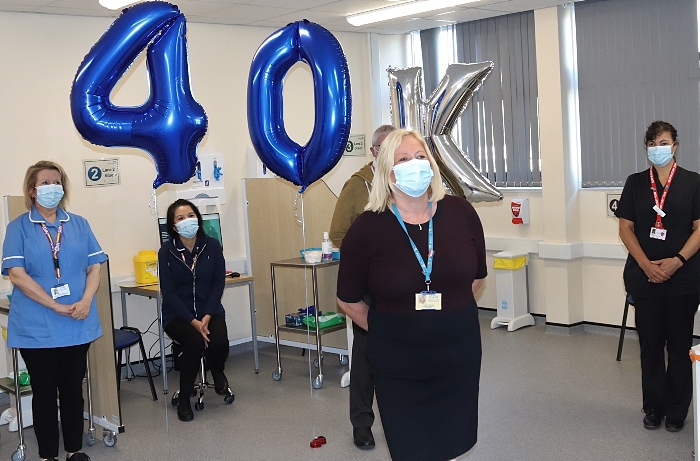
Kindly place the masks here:
<instances>
[{"instance_id":1,"label":"grey vertical blind behind the dark-haired woman standing at right","mask_svg":"<svg viewBox=\"0 0 700 461\"><path fill-rule=\"evenodd\" d=\"M678 130L678 163L700 171L697 0L576 3L583 187L648 168L644 133Z\"/></svg>"}]
</instances>

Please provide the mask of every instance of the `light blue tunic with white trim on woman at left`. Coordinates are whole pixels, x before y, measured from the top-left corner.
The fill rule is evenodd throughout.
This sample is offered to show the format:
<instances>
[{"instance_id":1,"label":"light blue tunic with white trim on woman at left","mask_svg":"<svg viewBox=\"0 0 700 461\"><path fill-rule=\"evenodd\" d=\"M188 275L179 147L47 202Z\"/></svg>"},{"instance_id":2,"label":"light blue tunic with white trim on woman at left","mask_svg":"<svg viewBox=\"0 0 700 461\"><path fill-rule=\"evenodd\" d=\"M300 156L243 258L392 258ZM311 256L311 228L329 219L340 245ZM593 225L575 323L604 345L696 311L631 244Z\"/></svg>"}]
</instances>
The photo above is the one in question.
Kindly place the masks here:
<instances>
[{"instance_id":1,"label":"light blue tunic with white trim on woman at left","mask_svg":"<svg viewBox=\"0 0 700 461\"><path fill-rule=\"evenodd\" d=\"M8 269L23 267L50 295L56 286L53 255L49 241L42 230L44 218L35 207L7 226L2 249L2 275ZM63 223L63 234L58 260L61 267L61 285L67 283L70 295L58 298L62 304L80 301L85 291L87 268L107 260L87 220L61 208L55 223L46 222L53 241L58 226ZM84 320L75 320L31 300L22 290L14 287L7 328L7 345L37 349L85 344L102 336L97 313L97 302L92 299L90 313Z\"/></svg>"}]
</instances>

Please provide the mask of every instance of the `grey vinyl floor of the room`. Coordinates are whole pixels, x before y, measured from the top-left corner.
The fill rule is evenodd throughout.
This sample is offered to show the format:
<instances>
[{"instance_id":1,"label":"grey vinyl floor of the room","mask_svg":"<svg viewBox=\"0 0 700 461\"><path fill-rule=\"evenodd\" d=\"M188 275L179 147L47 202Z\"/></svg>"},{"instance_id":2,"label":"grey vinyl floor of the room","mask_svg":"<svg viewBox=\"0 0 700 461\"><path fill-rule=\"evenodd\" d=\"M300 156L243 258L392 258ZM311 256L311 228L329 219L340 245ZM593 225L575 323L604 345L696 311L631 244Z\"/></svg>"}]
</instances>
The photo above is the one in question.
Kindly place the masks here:
<instances>
[{"instance_id":1,"label":"grey vinyl floor of the room","mask_svg":"<svg viewBox=\"0 0 700 461\"><path fill-rule=\"evenodd\" d=\"M615 361L614 331L593 329L567 335L543 325L516 332L490 330L481 318L483 364L479 441L468 461L692 460L692 411L679 433L642 427L639 347L625 342ZM284 348L284 376L273 381L274 348L260 351L253 373L252 352L234 353L227 374L236 394L228 406L209 391L206 407L190 423L178 421L169 396L150 399L145 378L122 383L126 432L117 444L100 441L86 452L98 460L388 460L381 422L376 449L352 444L348 390L340 387L346 367L327 355L323 389L309 385L308 356ZM169 374L177 382L177 372ZM156 380L156 386L161 382ZM175 386L176 387L176 386ZM162 389L162 388L161 388ZM160 393L161 391L159 391ZM28 429L27 459L37 457ZM311 449L324 435L328 443ZM0 428L0 459L11 459L17 433ZM61 459L63 459L61 454Z\"/></svg>"}]
</instances>

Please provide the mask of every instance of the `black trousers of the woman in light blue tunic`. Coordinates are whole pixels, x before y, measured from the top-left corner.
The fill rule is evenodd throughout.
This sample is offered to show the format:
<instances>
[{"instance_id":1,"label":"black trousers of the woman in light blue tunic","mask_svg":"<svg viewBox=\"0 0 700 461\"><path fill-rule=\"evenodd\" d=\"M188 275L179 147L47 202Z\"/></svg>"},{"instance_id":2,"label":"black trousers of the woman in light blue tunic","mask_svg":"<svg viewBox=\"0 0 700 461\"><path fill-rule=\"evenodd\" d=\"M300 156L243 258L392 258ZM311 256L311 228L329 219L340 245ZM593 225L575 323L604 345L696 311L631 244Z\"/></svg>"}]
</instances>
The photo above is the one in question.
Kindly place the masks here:
<instances>
[{"instance_id":1,"label":"black trousers of the woman in light blue tunic","mask_svg":"<svg viewBox=\"0 0 700 461\"><path fill-rule=\"evenodd\" d=\"M90 343L47 349L20 349L32 384L34 434L39 457L58 457L58 407L61 407L63 448L83 448L83 377Z\"/></svg>"}]
</instances>

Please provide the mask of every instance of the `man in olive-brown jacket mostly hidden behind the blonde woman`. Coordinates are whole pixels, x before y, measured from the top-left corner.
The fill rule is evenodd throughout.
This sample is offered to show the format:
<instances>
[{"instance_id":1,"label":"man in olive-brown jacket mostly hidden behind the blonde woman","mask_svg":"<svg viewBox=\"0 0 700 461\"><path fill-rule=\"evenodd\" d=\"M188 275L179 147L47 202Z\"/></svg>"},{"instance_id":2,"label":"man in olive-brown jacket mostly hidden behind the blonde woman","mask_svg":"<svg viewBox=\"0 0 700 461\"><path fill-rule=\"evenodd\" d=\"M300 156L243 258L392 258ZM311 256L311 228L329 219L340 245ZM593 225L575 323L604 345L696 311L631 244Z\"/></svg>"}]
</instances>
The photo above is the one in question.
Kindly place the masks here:
<instances>
[{"instance_id":1,"label":"man in olive-brown jacket mostly hidden behind the blonde woman","mask_svg":"<svg viewBox=\"0 0 700 461\"><path fill-rule=\"evenodd\" d=\"M365 211L365 205L369 200L372 179L374 179L374 163L379 149L384 139L395 129L392 125L382 125L374 131L370 147L374 160L354 173L345 182L343 190L340 192L333 211L329 234L333 246L341 249L341 255L343 237L355 218ZM369 305L369 302L367 304ZM350 423L352 424L355 446L361 450L370 450L374 448L374 435L372 435L374 380L369 370L367 331L353 324L353 335L350 368Z\"/></svg>"}]
</instances>

